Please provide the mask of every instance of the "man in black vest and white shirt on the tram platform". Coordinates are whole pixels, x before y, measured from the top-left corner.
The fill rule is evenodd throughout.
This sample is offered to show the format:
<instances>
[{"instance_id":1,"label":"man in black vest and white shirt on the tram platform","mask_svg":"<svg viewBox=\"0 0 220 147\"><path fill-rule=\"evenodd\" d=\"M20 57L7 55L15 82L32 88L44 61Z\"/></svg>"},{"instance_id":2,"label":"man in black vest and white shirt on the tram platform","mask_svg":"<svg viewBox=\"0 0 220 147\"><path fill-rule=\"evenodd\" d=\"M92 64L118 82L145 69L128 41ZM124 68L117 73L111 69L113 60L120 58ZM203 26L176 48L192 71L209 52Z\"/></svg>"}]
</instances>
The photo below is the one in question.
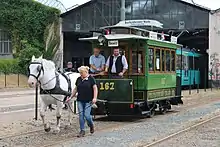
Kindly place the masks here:
<instances>
[{"instance_id":1,"label":"man in black vest and white shirt on the tram platform","mask_svg":"<svg viewBox=\"0 0 220 147\"><path fill-rule=\"evenodd\" d=\"M128 69L128 62L124 55L120 54L119 48L114 48L113 55L108 57L106 69L111 78L123 78Z\"/></svg>"}]
</instances>

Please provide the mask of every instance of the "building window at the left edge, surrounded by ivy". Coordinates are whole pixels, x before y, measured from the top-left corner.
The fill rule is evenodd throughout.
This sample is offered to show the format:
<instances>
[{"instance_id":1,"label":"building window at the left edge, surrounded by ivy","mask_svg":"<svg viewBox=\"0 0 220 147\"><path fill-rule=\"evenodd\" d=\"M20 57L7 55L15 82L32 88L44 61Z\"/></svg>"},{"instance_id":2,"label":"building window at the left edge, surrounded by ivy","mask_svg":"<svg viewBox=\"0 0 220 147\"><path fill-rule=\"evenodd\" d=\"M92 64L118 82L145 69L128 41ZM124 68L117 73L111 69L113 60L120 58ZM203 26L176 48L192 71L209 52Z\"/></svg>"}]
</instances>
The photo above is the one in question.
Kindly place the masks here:
<instances>
[{"instance_id":1,"label":"building window at the left edge, surrounded by ivy","mask_svg":"<svg viewBox=\"0 0 220 147\"><path fill-rule=\"evenodd\" d=\"M12 44L9 33L0 29L0 54L11 54Z\"/></svg>"}]
</instances>

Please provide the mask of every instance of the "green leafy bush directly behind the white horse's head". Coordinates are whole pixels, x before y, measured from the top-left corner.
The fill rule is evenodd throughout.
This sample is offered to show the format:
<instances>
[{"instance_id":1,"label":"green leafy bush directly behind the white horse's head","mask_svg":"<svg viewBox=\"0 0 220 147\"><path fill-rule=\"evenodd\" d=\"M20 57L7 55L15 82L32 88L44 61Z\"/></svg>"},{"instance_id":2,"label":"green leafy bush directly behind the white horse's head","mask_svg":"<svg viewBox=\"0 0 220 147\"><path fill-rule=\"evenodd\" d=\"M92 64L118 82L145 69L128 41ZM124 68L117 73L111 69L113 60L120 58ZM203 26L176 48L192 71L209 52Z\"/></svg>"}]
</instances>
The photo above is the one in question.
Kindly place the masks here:
<instances>
[{"instance_id":1,"label":"green leafy bush directly behind the white horse's head","mask_svg":"<svg viewBox=\"0 0 220 147\"><path fill-rule=\"evenodd\" d=\"M25 41L23 41L23 48L24 49L21 50L20 53L18 54L18 65L19 68L21 69L20 70L21 73L26 74L32 56L34 55L35 57L39 57L42 55L42 52Z\"/></svg>"}]
</instances>

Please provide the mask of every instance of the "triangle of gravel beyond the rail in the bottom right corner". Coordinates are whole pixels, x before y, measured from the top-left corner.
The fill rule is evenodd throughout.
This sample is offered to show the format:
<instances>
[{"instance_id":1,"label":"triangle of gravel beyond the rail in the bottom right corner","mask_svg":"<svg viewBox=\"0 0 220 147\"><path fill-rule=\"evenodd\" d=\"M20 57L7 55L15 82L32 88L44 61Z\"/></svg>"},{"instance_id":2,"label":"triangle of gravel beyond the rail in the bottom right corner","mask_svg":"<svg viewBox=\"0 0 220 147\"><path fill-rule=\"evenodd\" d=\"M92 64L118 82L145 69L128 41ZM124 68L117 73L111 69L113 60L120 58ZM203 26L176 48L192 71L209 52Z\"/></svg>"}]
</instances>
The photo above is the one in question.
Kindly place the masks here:
<instances>
[{"instance_id":1,"label":"triangle of gravel beyond the rail in the bottom right corner","mask_svg":"<svg viewBox=\"0 0 220 147\"><path fill-rule=\"evenodd\" d=\"M152 147L220 147L220 118Z\"/></svg>"}]
</instances>

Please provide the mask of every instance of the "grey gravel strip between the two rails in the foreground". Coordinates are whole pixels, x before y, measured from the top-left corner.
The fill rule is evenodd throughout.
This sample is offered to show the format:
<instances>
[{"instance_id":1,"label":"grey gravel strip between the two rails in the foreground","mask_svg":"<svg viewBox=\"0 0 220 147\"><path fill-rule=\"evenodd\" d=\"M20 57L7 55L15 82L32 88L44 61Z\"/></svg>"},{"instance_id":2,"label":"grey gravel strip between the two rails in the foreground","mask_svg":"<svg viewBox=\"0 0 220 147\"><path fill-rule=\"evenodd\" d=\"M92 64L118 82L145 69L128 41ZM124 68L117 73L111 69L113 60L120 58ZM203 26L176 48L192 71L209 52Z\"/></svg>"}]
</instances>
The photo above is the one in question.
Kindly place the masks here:
<instances>
[{"instance_id":1,"label":"grey gravel strip between the two rails in the foreground","mask_svg":"<svg viewBox=\"0 0 220 147\"><path fill-rule=\"evenodd\" d=\"M187 126L220 113L220 103L214 102L185 112L173 113L143 122L128 124L93 136L63 143L65 147L137 147L147 145L161 137L177 132ZM125 135L126 134L126 135ZM56 147L61 146L57 145Z\"/></svg>"}]
</instances>

